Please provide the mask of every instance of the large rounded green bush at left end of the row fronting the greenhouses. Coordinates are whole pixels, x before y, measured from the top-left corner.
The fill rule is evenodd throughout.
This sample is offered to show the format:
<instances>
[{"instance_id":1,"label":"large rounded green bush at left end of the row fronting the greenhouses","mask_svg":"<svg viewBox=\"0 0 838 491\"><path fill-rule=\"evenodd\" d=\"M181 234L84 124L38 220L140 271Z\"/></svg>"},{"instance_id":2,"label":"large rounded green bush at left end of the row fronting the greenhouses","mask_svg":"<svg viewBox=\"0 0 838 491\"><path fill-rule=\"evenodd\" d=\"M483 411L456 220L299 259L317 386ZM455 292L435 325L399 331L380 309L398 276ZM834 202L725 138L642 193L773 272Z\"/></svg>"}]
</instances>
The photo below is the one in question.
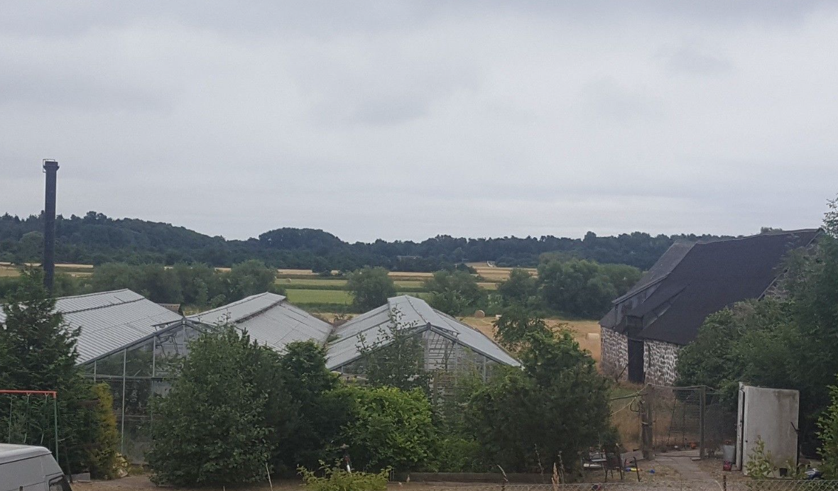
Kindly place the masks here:
<instances>
[{"instance_id":1,"label":"large rounded green bush at left end of the row fronting the greenhouses","mask_svg":"<svg viewBox=\"0 0 838 491\"><path fill-rule=\"evenodd\" d=\"M190 344L168 396L154 401L155 483L256 482L286 432L289 407L279 355L231 326Z\"/></svg>"}]
</instances>

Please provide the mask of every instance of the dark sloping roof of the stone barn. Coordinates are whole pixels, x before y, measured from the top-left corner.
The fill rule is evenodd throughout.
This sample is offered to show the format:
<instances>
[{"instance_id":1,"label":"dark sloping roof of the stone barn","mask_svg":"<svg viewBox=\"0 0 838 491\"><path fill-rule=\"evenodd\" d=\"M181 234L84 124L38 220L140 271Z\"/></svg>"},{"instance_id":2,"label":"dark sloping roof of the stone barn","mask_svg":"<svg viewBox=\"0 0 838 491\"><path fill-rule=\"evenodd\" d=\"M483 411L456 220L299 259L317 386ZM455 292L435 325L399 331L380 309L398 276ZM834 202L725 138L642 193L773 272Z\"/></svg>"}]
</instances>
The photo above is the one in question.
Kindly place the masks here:
<instances>
[{"instance_id":1,"label":"dark sloping roof of the stone barn","mask_svg":"<svg viewBox=\"0 0 838 491\"><path fill-rule=\"evenodd\" d=\"M644 319L641 338L688 344L711 313L762 297L782 273L787 253L810 245L819 231L790 230L699 242L670 268L654 293L627 315Z\"/></svg>"}]
</instances>

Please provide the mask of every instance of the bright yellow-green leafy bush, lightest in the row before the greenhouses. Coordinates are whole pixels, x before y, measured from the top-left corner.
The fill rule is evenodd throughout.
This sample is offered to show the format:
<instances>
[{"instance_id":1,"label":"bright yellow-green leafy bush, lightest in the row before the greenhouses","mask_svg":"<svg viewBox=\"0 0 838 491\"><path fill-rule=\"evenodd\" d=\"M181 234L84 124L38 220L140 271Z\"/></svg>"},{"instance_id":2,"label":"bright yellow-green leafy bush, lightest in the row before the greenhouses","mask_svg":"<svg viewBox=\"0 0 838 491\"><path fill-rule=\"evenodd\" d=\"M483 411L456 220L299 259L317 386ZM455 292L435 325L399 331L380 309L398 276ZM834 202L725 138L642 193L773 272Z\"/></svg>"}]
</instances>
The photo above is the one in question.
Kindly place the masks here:
<instances>
[{"instance_id":1,"label":"bright yellow-green leafy bush, lightest in the row before the greenhouses","mask_svg":"<svg viewBox=\"0 0 838 491\"><path fill-rule=\"evenodd\" d=\"M349 445L354 467L415 471L432 461L431 403L422 390L344 385L330 395L349 409L338 442Z\"/></svg>"}]
</instances>

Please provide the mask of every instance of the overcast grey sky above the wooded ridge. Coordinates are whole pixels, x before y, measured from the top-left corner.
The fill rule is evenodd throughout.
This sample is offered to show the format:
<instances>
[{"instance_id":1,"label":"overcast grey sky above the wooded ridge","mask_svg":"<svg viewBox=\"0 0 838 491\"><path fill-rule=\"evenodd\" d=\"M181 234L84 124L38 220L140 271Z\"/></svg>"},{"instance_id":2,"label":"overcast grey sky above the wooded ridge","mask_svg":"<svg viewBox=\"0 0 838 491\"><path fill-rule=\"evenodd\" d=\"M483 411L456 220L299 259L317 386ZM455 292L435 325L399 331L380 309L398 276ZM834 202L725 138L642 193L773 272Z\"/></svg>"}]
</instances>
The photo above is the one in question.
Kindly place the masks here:
<instances>
[{"instance_id":1,"label":"overcast grey sky above the wooded ridge","mask_svg":"<svg viewBox=\"0 0 838 491\"><path fill-rule=\"evenodd\" d=\"M0 3L0 214L751 234L838 194L838 2Z\"/></svg>"}]
</instances>

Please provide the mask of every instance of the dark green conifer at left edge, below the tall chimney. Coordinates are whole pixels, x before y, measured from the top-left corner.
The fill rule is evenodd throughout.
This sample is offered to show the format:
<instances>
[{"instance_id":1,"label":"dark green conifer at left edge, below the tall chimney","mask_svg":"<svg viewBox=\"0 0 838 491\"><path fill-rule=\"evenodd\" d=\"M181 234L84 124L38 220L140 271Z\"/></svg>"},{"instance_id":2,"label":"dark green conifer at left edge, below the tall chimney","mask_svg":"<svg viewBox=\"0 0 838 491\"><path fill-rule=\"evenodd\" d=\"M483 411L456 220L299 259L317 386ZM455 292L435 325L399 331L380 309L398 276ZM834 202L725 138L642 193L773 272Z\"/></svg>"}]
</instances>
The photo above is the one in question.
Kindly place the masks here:
<instances>
[{"instance_id":1,"label":"dark green conifer at left edge, below the tall chimney","mask_svg":"<svg viewBox=\"0 0 838 491\"><path fill-rule=\"evenodd\" d=\"M91 411L91 383L76 362L78 328L70 328L55 311L55 300L43 287L39 269L24 271L3 305L0 323L0 386L12 390L55 390L58 393L58 461L65 469L91 470L91 447L114 452L113 442L101 438L108 421ZM99 401L101 404L101 401ZM44 396L0 398L0 427L10 427L9 442L54 448L53 401Z\"/></svg>"}]
</instances>

